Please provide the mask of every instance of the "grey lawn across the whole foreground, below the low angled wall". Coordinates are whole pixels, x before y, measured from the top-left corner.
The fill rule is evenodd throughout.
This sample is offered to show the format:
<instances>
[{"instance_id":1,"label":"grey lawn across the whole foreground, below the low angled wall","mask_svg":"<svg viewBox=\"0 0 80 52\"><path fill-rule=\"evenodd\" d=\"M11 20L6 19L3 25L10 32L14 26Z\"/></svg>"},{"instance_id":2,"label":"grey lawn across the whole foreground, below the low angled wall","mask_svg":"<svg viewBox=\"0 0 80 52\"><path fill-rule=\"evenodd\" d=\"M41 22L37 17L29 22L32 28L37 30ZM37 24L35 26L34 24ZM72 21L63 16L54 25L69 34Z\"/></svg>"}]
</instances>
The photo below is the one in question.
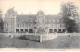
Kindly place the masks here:
<instances>
[{"instance_id":1,"label":"grey lawn across the whole foreground, below the low angled wall","mask_svg":"<svg viewBox=\"0 0 80 52\"><path fill-rule=\"evenodd\" d=\"M24 38L10 38L0 36L0 48L48 48L48 49L66 49L80 48L80 36L60 36L53 40L38 42L30 41Z\"/></svg>"}]
</instances>

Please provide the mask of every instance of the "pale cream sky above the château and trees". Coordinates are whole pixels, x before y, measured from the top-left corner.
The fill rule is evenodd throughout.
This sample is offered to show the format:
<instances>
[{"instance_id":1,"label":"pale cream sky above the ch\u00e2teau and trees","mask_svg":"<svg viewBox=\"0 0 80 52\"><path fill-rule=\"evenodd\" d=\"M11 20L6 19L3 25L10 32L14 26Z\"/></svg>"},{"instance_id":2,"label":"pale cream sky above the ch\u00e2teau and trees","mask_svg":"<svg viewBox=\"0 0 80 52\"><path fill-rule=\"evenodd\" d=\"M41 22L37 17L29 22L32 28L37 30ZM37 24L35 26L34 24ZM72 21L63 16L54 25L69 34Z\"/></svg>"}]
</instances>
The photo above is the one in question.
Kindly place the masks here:
<instances>
[{"instance_id":1,"label":"pale cream sky above the ch\u00e2teau and trees","mask_svg":"<svg viewBox=\"0 0 80 52\"><path fill-rule=\"evenodd\" d=\"M12 7L18 14L36 14L39 10L45 14L58 14L61 11L60 5L68 1L75 2L80 8L80 0L0 0L0 9L3 14Z\"/></svg>"}]
</instances>

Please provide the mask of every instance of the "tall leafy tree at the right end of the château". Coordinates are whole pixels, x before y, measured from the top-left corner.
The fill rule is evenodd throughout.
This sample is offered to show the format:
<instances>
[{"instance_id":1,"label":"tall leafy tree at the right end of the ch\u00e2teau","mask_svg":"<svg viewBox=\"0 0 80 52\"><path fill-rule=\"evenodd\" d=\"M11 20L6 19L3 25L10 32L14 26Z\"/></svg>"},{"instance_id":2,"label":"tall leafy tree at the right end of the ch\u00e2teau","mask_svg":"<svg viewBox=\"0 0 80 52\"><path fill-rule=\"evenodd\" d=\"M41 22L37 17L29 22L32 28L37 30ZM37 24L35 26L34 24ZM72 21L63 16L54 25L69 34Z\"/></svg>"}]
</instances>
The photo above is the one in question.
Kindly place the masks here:
<instances>
[{"instance_id":1,"label":"tall leafy tree at the right end of the ch\u00e2teau","mask_svg":"<svg viewBox=\"0 0 80 52\"><path fill-rule=\"evenodd\" d=\"M78 8L74 5L73 2L68 2L66 4L62 4L61 9L63 13L63 23L65 24L67 32L78 32Z\"/></svg>"}]
</instances>

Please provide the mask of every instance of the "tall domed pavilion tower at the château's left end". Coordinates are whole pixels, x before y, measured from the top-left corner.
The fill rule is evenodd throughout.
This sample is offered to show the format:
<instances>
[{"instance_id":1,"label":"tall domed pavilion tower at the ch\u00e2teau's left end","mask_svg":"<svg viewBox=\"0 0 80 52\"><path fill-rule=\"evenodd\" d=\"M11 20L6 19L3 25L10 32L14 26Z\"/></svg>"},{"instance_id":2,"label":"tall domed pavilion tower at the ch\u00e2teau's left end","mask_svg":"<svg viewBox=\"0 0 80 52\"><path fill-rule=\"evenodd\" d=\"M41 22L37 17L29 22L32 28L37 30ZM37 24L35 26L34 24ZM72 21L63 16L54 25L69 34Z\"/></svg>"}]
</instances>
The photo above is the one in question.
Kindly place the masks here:
<instances>
[{"instance_id":1,"label":"tall domed pavilion tower at the ch\u00e2teau's left end","mask_svg":"<svg viewBox=\"0 0 80 52\"><path fill-rule=\"evenodd\" d=\"M9 9L4 18L4 32L16 32L16 12Z\"/></svg>"}]
</instances>

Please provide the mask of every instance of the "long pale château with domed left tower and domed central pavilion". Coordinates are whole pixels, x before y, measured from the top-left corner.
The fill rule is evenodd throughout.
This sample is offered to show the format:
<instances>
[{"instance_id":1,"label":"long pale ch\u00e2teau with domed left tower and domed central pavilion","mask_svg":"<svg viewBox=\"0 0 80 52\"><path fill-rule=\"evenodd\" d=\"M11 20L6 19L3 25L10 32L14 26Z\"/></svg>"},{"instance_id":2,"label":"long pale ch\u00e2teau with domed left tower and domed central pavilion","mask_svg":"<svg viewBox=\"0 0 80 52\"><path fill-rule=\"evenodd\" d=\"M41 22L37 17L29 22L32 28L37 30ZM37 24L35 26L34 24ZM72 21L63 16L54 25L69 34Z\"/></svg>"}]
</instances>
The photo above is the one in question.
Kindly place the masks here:
<instances>
[{"instance_id":1,"label":"long pale ch\u00e2teau with domed left tower and domed central pavilion","mask_svg":"<svg viewBox=\"0 0 80 52\"><path fill-rule=\"evenodd\" d=\"M9 9L4 18L4 32L17 33L62 33L66 32L62 15L46 15L43 11L37 14L17 14Z\"/></svg>"}]
</instances>

